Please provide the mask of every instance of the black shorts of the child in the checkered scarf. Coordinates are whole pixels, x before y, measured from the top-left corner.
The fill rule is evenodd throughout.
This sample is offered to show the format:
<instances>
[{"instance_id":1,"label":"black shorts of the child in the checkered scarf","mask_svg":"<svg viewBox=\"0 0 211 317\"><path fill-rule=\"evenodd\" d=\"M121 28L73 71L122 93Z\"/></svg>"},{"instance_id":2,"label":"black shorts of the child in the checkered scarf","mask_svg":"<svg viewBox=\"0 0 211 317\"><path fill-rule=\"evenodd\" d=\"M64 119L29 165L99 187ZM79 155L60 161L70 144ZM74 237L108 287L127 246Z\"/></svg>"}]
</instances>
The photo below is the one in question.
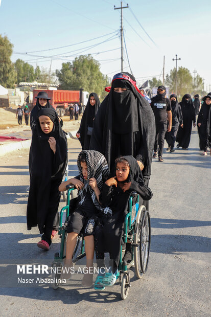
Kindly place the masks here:
<instances>
[{"instance_id":1,"label":"black shorts of the child in the checkered scarf","mask_svg":"<svg viewBox=\"0 0 211 317\"><path fill-rule=\"evenodd\" d=\"M84 237L93 235L98 219L98 211L84 210L79 207L72 215L67 224L67 233L82 233Z\"/></svg>"}]
</instances>

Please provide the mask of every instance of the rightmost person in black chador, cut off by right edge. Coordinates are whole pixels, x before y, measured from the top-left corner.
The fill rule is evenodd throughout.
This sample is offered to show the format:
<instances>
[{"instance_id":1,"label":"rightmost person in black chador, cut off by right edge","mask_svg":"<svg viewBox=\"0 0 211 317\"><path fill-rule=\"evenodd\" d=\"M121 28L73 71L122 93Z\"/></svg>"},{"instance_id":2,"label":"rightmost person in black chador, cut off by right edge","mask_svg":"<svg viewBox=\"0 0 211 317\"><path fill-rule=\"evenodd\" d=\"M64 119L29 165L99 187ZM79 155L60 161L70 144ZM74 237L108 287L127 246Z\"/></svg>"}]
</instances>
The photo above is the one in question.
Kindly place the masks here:
<instances>
[{"instance_id":1,"label":"rightmost person in black chador, cut off by right edge","mask_svg":"<svg viewBox=\"0 0 211 317\"><path fill-rule=\"evenodd\" d=\"M197 120L197 128L199 133L199 147L203 150L201 155L207 155L208 151L208 117L211 107L211 95L207 95L203 98L203 104L201 110L199 111L199 116Z\"/></svg>"}]
</instances>

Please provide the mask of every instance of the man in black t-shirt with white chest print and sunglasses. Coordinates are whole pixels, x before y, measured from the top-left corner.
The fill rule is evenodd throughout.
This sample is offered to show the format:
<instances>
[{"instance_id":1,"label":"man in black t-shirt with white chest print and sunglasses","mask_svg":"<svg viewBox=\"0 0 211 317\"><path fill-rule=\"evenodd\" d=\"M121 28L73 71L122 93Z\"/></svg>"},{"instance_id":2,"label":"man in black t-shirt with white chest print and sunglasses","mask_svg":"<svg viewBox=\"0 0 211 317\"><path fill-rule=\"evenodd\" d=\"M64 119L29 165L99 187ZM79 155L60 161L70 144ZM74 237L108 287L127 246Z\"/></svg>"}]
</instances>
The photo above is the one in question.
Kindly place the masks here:
<instances>
[{"instance_id":1,"label":"man in black t-shirt with white chest print and sunglasses","mask_svg":"<svg viewBox=\"0 0 211 317\"><path fill-rule=\"evenodd\" d=\"M171 101L166 98L166 87L159 86L157 88L157 95L152 98L151 107L155 116L155 144L153 157L157 157L158 161L163 162L162 151L165 141L166 131L170 132L172 129L172 108ZM167 130L167 122L169 126ZM158 148L159 146L159 148Z\"/></svg>"}]
</instances>

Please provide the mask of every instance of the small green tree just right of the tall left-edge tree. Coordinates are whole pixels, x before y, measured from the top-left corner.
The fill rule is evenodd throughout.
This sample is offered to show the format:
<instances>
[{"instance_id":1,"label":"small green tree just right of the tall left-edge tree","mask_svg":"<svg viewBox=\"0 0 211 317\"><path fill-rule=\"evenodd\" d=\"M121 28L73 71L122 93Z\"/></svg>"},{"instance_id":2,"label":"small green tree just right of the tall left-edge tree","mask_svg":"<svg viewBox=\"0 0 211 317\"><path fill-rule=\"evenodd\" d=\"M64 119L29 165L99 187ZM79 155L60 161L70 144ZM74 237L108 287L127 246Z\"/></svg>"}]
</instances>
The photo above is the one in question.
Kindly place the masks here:
<instances>
[{"instance_id":1,"label":"small green tree just right of the tall left-edge tree","mask_svg":"<svg viewBox=\"0 0 211 317\"><path fill-rule=\"evenodd\" d=\"M34 81L34 67L22 59L17 59L14 63L17 84L21 81Z\"/></svg>"}]
</instances>

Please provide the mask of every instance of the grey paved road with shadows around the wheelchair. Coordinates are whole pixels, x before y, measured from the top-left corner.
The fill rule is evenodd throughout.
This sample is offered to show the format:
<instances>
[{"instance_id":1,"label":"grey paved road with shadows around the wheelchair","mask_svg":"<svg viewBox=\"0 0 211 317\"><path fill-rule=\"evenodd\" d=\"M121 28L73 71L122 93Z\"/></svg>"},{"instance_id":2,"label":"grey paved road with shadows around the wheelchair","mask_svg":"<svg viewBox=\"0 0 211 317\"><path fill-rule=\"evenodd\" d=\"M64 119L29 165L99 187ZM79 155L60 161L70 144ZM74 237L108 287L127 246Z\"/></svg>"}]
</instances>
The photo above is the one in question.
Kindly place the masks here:
<instances>
[{"instance_id":1,"label":"grey paved road with shadows around the wheelchair","mask_svg":"<svg viewBox=\"0 0 211 317\"><path fill-rule=\"evenodd\" d=\"M77 174L79 142L69 143L69 175ZM119 283L96 292L83 288L80 278L57 290L0 287L2 316L210 316L210 156L198 150L192 134L189 150L165 153L164 163L153 162L150 187L152 243L149 268L142 280L132 271L132 287L122 301ZM39 250L37 228L26 230L27 150L5 155L0 164L0 266L1 281L11 281L17 259L53 259L56 238L49 252ZM63 202L60 204L62 207Z\"/></svg>"}]
</instances>

